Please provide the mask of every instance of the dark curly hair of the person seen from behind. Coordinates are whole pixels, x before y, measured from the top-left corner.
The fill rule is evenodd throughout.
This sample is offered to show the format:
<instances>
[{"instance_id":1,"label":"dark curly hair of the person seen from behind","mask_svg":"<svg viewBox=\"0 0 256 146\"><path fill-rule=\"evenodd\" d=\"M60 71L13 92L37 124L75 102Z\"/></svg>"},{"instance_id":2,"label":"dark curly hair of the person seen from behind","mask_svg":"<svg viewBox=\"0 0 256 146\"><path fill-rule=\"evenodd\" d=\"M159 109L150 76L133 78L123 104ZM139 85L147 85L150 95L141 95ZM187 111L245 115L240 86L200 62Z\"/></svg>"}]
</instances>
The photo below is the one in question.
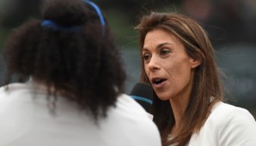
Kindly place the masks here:
<instances>
[{"instance_id":1,"label":"dark curly hair of the person seen from behind","mask_svg":"<svg viewBox=\"0 0 256 146\"><path fill-rule=\"evenodd\" d=\"M94 120L106 117L125 89L125 70L109 26L102 27L95 9L82 0L47 1L42 17L27 20L9 37L7 83L13 75L20 81L33 77L46 85L48 96L61 93ZM53 30L41 26L43 20L79 31Z\"/></svg>"}]
</instances>

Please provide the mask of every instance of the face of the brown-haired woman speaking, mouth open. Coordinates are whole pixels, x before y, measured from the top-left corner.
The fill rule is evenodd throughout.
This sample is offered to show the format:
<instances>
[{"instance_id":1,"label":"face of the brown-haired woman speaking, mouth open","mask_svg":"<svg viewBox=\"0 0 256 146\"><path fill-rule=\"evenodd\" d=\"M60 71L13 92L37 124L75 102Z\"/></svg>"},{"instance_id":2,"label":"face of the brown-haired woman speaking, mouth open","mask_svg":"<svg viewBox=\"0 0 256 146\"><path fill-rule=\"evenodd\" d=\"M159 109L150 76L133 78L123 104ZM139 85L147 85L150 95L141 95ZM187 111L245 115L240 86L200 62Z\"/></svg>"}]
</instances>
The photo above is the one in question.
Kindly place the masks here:
<instances>
[{"instance_id":1,"label":"face of the brown-haired woman speaking, mouth open","mask_svg":"<svg viewBox=\"0 0 256 146\"><path fill-rule=\"evenodd\" d=\"M186 54L183 44L171 32L155 29L147 33L143 61L145 73L160 99L189 96L192 68L199 64Z\"/></svg>"}]
</instances>

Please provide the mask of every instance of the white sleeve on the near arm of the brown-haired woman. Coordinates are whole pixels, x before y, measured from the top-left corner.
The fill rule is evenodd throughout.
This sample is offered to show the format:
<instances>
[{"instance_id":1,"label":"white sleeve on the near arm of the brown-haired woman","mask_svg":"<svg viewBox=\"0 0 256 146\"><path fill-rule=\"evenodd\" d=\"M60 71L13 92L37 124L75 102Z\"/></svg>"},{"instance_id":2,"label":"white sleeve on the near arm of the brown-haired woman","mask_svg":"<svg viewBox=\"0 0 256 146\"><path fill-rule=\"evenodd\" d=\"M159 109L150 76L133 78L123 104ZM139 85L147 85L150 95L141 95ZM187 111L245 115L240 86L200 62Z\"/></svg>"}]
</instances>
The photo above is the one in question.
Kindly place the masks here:
<instances>
[{"instance_id":1,"label":"white sleeve on the near arm of the brown-haired woman","mask_svg":"<svg viewBox=\"0 0 256 146\"><path fill-rule=\"evenodd\" d=\"M256 122L246 109L235 110L218 131L220 146L256 146Z\"/></svg>"}]
</instances>

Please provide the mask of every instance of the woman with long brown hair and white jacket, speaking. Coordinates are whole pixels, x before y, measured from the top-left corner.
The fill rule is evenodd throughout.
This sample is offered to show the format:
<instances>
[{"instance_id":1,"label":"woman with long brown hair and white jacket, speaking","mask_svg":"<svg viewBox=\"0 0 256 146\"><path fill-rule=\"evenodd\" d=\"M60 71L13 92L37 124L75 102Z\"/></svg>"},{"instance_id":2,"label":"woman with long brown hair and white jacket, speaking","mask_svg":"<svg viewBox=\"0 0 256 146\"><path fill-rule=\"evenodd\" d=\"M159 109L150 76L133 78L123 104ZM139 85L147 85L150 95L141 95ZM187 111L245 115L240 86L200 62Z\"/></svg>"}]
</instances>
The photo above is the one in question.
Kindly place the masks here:
<instances>
[{"instance_id":1,"label":"woman with long brown hair and white jacket, speaking","mask_svg":"<svg viewBox=\"0 0 256 146\"><path fill-rule=\"evenodd\" d=\"M141 81L154 88L151 113L163 146L256 145L253 115L223 102L214 50L198 22L152 12L136 29Z\"/></svg>"}]
</instances>

